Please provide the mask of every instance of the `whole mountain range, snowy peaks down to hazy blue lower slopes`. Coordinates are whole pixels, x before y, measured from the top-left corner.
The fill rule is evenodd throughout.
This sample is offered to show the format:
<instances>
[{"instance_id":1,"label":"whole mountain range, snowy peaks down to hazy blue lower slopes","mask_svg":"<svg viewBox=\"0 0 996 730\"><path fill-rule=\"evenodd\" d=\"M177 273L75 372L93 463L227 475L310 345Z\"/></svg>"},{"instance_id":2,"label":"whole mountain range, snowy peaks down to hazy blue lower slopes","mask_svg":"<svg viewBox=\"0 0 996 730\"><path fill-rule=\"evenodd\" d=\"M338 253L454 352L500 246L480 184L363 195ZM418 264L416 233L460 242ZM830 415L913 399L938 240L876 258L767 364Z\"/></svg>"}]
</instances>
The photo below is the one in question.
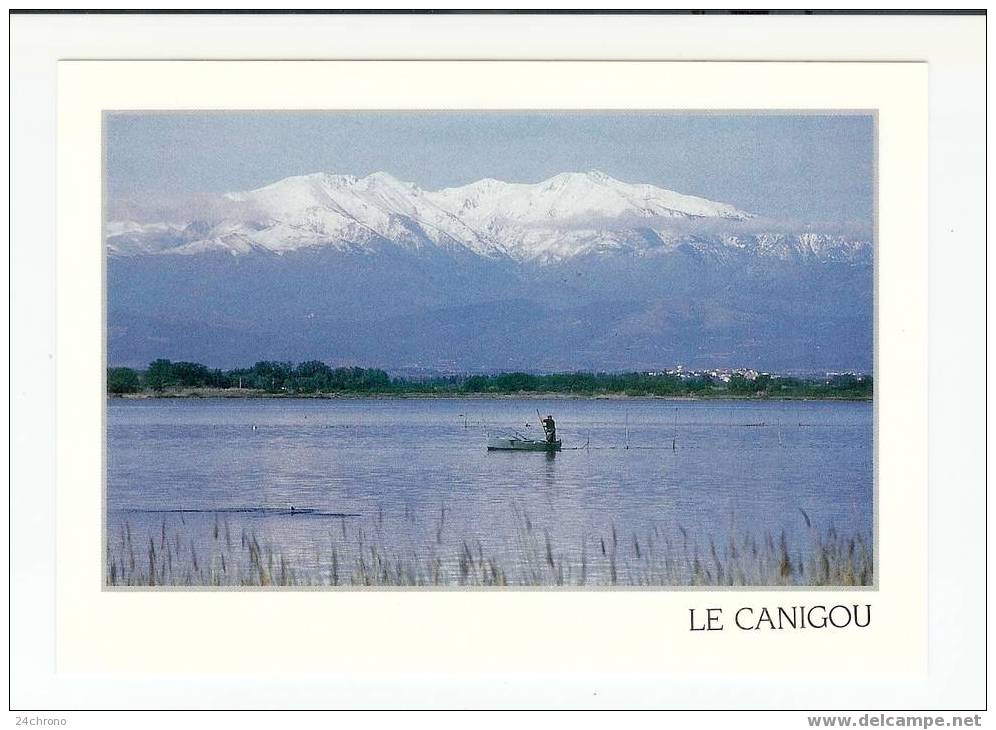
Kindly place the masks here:
<instances>
[{"instance_id":1,"label":"whole mountain range, snowy peaks down to hazy blue lower slopes","mask_svg":"<svg viewBox=\"0 0 996 730\"><path fill-rule=\"evenodd\" d=\"M872 365L867 237L598 172L434 192L322 173L110 211L111 364Z\"/></svg>"}]
</instances>

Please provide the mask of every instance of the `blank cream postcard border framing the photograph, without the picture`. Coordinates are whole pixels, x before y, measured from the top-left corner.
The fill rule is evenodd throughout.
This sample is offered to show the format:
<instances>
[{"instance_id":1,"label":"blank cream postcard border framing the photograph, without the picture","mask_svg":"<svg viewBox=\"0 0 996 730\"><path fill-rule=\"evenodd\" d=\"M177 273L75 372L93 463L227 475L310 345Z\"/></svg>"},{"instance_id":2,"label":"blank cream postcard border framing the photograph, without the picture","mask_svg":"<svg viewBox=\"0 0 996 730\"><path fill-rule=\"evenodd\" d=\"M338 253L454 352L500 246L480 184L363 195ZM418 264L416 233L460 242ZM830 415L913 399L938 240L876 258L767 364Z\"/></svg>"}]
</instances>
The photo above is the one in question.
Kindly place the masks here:
<instances>
[{"instance_id":1,"label":"blank cream postcard border framing the photograph, without the picture","mask_svg":"<svg viewBox=\"0 0 996 730\"><path fill-rule=\"evenodd\" d=\"M559 673L925 670L923 64L69 61L60 64L59 87L60 669L239 673L258 671L262 662L268 673L291 674L485 674L523 665ZM877 110L879 589L102 591L103 434L95 427L104 409L101 115L107 109L201 108ZM872 603L872 626L765 635L688 631L692 607L814 602ZM143 630L149 625L156 630ZM247 640L261 630L278 637L281 627L306 627L308 640Z\"/></svg>"}]
</instances>

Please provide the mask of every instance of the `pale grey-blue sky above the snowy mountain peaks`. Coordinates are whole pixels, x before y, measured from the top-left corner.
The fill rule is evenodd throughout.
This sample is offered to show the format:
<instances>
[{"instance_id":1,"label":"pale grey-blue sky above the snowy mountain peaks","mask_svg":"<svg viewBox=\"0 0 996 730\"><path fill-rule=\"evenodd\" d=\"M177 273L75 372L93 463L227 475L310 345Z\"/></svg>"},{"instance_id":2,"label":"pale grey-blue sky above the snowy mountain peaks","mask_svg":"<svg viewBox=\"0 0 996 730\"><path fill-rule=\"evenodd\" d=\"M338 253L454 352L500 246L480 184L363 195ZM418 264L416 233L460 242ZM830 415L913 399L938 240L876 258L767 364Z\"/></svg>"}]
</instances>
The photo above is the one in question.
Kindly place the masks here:
<instances>
[{"instance_id":1,"label":"pale grey-blue sky above the snowy mountain peaks","mask_svg":"<svg viewBox=\"0 0 996 730\"><path fill-rule=\"evenodd\" d=\"M870 224L867 114L112 112L111 199L250 190L384 171L436 190L601 170L781 220Z\"/></svg>"}]
</instances>

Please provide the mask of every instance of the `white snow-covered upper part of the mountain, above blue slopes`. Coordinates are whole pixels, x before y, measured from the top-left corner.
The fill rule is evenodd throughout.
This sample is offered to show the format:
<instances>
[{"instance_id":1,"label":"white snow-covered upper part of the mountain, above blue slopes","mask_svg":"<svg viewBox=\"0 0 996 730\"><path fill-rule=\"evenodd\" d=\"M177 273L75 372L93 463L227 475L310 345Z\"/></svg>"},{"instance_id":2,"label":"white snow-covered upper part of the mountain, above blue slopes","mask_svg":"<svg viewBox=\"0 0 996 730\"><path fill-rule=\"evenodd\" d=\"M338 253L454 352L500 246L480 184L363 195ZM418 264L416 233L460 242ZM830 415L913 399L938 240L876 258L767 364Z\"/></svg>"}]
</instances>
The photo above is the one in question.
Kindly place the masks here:
<instances>
[{"instance_id":1,"label":"white snow-covered upper part of the mountain, above blue slopes","mask_svg":"<svg viewBox=\"0 0 996 730\"><path fill-rule=\"evenodd\" d=\"M562 173L539 183L485 179L426 191L378 172L363 178L316 173L216 196L210 214L181 210L169 221L112 220L113 255L223 252L284 254L302 249L375 253L385 247L442 249L492 259L549 263L599 252L666 252L691 245L765 256L847 260L867 242L809 230L765 228L725 203ZM147 218L147 216L146 216Z\"/></svg>"}]
</instances>

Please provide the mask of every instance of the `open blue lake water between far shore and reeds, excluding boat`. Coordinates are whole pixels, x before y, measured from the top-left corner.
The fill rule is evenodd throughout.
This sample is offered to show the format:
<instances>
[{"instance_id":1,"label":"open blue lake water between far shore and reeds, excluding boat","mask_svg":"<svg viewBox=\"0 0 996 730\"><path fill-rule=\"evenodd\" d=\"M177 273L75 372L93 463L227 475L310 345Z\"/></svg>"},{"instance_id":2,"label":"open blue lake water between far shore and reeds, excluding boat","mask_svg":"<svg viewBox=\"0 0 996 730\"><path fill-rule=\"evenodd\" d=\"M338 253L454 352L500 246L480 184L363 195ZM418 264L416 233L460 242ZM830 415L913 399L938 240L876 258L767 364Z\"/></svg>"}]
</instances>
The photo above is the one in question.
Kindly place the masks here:
<instances>
[{"instance_id":1,"label":"open blue lake water between far shore and reeds, excluding boat","mask_svg":"<svg viewBox=\"0 0 996 730\"><path fill-rule=\"evenodd\" d=\"M507 428L539 436L537 409L563 452L485 449ZM210 543L221 520L317 581L337 539L398 556L513 556L527 528L581 552L613 532L705 546L799 539L803 511L872 534L866 402L111 399L107 444L109 552L126 530Z\"/></svg>"}]
</instances>

